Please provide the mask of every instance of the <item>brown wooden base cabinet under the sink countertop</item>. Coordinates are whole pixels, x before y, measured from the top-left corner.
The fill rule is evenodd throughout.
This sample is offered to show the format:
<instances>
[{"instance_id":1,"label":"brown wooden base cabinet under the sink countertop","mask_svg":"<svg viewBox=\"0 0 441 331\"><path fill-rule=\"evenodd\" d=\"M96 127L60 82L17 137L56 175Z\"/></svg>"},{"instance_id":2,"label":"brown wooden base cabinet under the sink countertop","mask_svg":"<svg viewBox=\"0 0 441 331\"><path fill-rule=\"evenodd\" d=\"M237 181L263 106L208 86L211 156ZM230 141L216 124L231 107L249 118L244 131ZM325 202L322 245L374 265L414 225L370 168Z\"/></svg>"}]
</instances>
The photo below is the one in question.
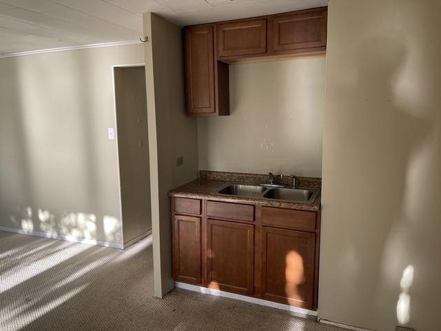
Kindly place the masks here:
<instances>
[{"instance_id":1,"label":"brown wooden base cabinet under the sink countertop","mask_svg":"<svg viewBox=\"0 0 441 331\"><path fill-rule=\"evenodd\" d=\"M172 205L176 281L317 308L320 212L178 197Z\"/></svg>"}]
</instances>

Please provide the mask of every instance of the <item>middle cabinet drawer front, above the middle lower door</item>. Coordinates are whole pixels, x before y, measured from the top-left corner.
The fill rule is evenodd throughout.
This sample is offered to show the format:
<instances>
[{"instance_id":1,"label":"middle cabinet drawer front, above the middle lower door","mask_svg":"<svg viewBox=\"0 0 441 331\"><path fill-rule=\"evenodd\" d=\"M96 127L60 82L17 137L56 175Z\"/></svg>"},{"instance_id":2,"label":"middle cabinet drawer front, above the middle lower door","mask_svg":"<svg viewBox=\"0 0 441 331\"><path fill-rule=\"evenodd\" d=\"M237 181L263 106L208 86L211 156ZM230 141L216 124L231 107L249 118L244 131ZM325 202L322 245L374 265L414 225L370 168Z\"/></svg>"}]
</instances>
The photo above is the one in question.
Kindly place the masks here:
<instances>
[{"instance_id":1,"label":"middle cabinet drawer front, above the middle lower door","mask_svg":"<svg viewBox=\"0 0 441 331\"><path fill-rule=\"evenodd\" d=\"M207 215L211 217L252 222L254 221L254 205L208 201Z\"/></svg>"}]
</instances>

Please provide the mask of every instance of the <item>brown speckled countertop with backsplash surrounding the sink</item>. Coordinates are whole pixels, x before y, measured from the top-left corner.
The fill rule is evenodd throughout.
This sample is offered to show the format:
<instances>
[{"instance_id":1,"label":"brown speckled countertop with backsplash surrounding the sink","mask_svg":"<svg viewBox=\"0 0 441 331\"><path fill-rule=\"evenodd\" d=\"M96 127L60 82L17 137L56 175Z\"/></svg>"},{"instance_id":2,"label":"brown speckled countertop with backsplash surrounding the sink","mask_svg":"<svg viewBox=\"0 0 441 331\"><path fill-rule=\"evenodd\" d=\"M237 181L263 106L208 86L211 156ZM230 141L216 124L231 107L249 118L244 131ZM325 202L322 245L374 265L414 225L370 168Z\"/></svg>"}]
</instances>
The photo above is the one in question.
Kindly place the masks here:
<instances>
[{"instance_id":1,"label":"brown speckled countertop with backsplash surrounding the sink","mask_svg":"<svg viewBox=\"0 0 441 331\"><path fill-rule=\"evenodd\" d=\"M267 183L268 176L265 174L242 174L238 172L214 172L200 171L199 179L191 181L169 192L170 197L183 197L192 199L209 199L212 201L225 201L236 203L253 203L256 205L266 205L269 207L279 207L297 210L320 210L320 188L321 179L312 177L297 177L298 188L313 188L319 190L316 200L312 203L282 201L265 199L260 197L237 197L233 195L225 195L216 193L229 183ZM285 179L281 184L288 185Z\"/></svg>"}]
</instances>

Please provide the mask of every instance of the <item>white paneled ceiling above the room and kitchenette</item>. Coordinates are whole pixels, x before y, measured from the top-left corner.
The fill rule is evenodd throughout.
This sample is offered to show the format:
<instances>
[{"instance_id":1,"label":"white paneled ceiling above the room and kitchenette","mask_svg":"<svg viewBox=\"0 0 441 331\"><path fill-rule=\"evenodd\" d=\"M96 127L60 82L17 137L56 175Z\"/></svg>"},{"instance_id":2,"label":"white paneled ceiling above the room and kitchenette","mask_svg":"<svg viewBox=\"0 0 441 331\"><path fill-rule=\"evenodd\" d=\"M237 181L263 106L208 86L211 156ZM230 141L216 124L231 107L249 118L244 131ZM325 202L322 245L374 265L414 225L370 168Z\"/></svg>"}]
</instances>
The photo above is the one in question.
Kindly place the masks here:
<instances>
[{"instance_id":1,"label":"white paneled ceiling above the room and kitchenette","mask_svg":"<svg viewBox=\"0 0 441 331\"><path fill-rule=\"evenodd\" d=\"M180 26L327 6L327 0L0 0L0 54L143 37L143 12Z\"/></svg>"}]
</instances>

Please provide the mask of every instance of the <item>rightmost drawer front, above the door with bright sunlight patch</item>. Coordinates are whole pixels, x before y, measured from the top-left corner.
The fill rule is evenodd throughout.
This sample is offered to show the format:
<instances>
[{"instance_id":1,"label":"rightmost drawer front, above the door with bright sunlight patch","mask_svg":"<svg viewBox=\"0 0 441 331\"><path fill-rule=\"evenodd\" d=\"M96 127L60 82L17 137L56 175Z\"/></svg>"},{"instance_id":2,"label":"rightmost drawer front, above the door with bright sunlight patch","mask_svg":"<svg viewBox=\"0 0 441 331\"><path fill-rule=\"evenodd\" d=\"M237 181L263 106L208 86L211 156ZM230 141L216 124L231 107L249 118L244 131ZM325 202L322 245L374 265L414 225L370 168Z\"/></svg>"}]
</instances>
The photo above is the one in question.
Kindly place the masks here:
<instances>
[{"instance_id":1,"label":"rightmost drawer front, above the door with bright sunlight patch","mask_svg":"<svg viewBox=\"0 0 441 331\"><path fill-rule=\"evenodd\" d=\"M283 208L262 208L262 223L277 228L316 230L316 212Z\"/></svg>"}]
</instances>

